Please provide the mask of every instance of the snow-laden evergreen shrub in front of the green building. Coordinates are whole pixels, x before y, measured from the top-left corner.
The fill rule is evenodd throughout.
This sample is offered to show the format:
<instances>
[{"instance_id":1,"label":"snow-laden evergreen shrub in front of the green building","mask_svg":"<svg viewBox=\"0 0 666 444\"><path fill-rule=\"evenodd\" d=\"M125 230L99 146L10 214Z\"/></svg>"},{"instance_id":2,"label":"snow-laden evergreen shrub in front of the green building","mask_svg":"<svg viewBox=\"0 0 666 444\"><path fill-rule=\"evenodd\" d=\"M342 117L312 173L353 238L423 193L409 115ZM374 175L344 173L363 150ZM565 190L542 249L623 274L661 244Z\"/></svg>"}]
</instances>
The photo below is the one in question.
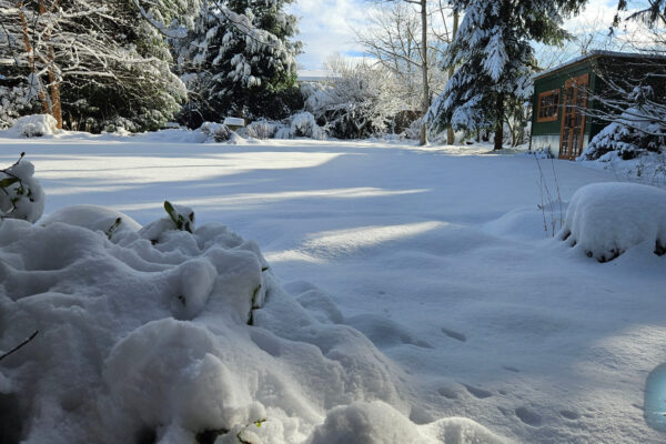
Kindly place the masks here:
<instances>
[{"instance_id":1,"label":"snow-laden evergreen shrub in front of the green building","mask_svg":"<svg viewBox=\"0 0 666 444\"><path fill-rule=\"evenodd\" d=\"M626 110L591 141L582 157L585 160L632 160L647 152L666 152L666 127L642 118L640 110ZM610 155L606 155L612 153Z\"/></svg>"}]
</instances>

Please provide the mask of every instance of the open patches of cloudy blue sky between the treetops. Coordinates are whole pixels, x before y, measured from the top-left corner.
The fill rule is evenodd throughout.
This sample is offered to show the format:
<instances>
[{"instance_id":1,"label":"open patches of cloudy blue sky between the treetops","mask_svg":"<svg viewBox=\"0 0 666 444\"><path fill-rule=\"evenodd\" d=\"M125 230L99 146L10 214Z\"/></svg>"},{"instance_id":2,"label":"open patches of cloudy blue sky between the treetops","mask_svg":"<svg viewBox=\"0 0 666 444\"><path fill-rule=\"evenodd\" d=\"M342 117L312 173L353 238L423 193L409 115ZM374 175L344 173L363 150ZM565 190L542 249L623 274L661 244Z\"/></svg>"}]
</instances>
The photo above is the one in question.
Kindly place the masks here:
<instances>
[{"instance_id":1,"label":"open patches of cloudy blue sky between the treetops","mask_svg":"<svg viewBox=\"0 0 666 444\"><path fill-rule=\"evenodd\" d=\"M354 42L353 29L363 29L372 0L296 0L289 10L300 18L304 53L299 57L303 69L322 69L326 58L335 52L349 57L362 57L363 49ZM581 17L567 22L574 32L593 29L607 30L617 0L591 0Z\"/></svg>"}]
</instances>

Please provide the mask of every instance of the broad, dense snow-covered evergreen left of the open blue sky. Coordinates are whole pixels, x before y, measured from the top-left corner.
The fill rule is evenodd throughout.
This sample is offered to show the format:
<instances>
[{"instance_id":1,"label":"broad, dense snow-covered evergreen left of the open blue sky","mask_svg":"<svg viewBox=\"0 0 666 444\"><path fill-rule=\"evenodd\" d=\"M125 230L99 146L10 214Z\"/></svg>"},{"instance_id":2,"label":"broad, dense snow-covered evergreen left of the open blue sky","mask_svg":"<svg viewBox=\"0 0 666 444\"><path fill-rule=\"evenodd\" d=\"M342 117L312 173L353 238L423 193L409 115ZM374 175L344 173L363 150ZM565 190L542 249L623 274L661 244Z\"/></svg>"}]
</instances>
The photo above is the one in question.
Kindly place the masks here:
<instances>
[{"instance_id":1,"label":"broad, dense snow-covered evergreen left of the open blue sky","mask_svg":"<svg viewBox=\"0 0 666 444\"><path fill-rule=\"evenodd\" d=\"M283 118L297 102L295 56L301 43L293 0L205 0L194 29L176 41L190 92L182 120L198 125L233 114Z\"/></svg>"}]
</instances>

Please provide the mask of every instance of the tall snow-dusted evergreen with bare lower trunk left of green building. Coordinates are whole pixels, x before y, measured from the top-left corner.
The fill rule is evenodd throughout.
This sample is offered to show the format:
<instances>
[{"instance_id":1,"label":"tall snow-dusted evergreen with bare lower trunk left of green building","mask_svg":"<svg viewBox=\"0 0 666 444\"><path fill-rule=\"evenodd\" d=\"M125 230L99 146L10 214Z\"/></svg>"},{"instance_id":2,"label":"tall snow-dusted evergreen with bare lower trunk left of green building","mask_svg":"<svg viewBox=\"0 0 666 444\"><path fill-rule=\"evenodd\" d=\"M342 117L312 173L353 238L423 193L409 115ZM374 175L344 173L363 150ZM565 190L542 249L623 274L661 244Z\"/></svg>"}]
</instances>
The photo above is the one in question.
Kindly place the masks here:
<instances>
[{"instance_id":1,"label":"tall snow-dusted evergreen with bare lower trunk left of green building","mask_svg":"<svg viewBox=\"0 0 666 444\"><path fill-rule=\"evenodd\" d=\"M502 149L507 102L531 95L536 68L532 42L556 44L567 37L563 17L585 0L452 0L464 18L445 67L457 67L427 119L456 130L495 131Z\"/></svg>"}]
</instances>

